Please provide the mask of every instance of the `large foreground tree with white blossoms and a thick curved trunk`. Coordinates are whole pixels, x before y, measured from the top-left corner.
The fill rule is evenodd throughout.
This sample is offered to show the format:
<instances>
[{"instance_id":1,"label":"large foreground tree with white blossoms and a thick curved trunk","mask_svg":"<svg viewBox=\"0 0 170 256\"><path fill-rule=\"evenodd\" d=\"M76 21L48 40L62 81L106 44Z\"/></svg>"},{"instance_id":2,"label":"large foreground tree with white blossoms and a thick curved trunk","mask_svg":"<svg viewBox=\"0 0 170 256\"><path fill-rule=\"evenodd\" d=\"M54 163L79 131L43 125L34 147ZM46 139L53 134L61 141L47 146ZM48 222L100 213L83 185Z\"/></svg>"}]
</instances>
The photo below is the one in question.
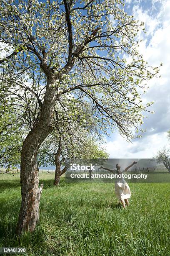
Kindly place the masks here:
<instances>
[{"instance_id":1,"label":"large foreground tree with white blossoms and a thick curved trunk","mask_svg":"<svg viewBox=\"0 0 170 256\"><path fill-rule=\"evenodd\" d=\"M115 131L128 141L143 122L140 95L158 73L139 54L139 24L123 10L123 0L0 1L1 90L30 132L21 152L22 202L17 233L35 230L39 218L37 152L60 119L72 93L91 101L100 133ZM115 20L113 23L112 20ZM132 61L126 64L126 57ZM140 90L138 91L137 88ZM13 97L11 97L13 96Z\"/></svg>"}]
</instances>

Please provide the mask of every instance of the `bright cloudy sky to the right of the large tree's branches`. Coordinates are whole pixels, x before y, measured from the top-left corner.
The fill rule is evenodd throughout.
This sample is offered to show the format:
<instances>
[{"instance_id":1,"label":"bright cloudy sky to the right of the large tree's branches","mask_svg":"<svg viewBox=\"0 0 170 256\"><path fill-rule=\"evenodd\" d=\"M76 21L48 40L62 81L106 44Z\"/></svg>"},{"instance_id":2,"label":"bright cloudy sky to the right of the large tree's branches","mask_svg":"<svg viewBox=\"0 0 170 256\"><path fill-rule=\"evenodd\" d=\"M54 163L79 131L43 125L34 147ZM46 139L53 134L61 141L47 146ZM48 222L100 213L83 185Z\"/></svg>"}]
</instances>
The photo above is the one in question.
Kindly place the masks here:
<instances>
[{"instance_id":1,"label":"bright cloudy sky to the right of the large tree's branches","mask_svg":"<svg viewBox=\"0 0 170 256\"><path fill-rule=\"evenodd\" d=\"M106 138L104 144L110 158L152 158L163 146L170 146L170 0L126 0L125 11L136 20L144 21L147 33L141 32L139 51L150 66L159 66L159 79L148 81L150 87L143 102L154 101L150 107L155 113L145 113L146 129L142 138L128 143L118 132Z\"/></svg>"}]
</instances>

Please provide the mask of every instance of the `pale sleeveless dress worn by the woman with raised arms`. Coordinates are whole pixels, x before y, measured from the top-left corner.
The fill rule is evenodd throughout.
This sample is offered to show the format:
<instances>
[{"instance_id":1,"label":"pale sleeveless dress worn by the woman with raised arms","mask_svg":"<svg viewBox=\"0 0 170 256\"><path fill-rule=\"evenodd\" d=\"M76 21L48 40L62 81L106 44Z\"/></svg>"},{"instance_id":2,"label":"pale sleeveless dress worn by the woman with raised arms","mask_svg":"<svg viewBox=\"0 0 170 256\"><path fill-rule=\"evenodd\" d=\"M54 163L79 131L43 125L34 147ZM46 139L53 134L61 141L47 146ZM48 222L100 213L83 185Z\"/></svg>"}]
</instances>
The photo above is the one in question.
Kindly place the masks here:
<instances>
[{"instance_id":1,"label":"pale sleeveless dress worn by the woman with raised arms","mask_svg":"<svg viewBox=\"0 0 170 256\"><path fill-rule=\"evenodd\" d=\"M124 171L118 171L117 174L122 174ZM131 196L130 187L125 179L121 176L115 181L115 194L120 199L128 199Z\"/></svg>"}]
</instances>

